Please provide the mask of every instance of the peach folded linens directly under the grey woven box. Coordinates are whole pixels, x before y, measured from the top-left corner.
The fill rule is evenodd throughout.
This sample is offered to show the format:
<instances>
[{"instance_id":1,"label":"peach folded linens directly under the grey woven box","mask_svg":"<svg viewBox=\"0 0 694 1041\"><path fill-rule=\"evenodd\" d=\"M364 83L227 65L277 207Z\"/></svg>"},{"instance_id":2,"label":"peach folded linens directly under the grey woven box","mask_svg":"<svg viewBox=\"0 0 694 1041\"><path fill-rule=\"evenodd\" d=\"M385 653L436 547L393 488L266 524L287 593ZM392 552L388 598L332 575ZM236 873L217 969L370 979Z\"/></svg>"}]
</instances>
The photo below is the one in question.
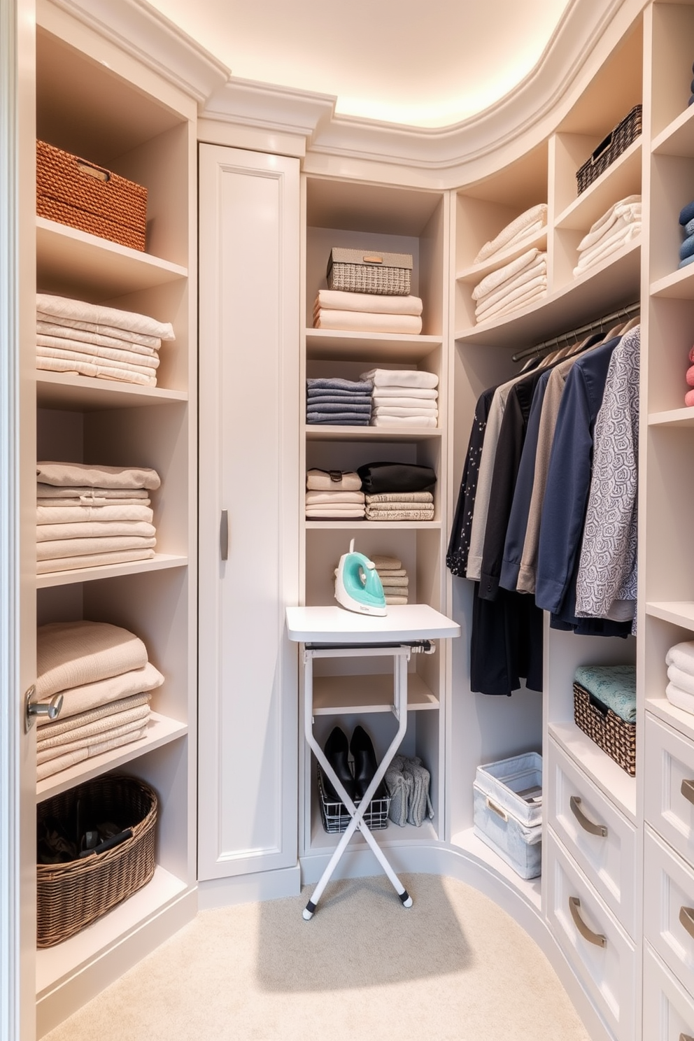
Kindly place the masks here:
<instances>
[{"instance_id":1,"label":"peach folded linens directly under the grey woven box","mask_svg":"<svg viewBox=\"0 0 694 1041\"><path fill-rule=\"evenodd\" d=\"M313 304L313 328L416 335L421 332L421 309L419 297L318 289Z\"/></svg>"}]
</instances>

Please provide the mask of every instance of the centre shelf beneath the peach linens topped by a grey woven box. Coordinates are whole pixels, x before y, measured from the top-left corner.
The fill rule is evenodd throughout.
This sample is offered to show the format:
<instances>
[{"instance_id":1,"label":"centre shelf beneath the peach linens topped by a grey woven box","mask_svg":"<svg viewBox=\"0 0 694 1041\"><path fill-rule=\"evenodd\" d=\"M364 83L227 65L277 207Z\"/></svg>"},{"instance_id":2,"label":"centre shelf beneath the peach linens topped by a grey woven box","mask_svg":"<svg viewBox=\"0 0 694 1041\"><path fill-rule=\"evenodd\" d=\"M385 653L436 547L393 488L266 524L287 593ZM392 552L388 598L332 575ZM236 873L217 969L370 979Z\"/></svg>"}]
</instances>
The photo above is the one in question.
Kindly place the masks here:
<instances>
[{"instance_id":1,"label":"centre shelf beneath the peach linens topped by a grey woven box","mask_svg":"<svg viewBox=\"0 0 694 1041\"><path fill-rule=\"evenodd\" d=\"M309 361L423 361L442 344L440 336L396 336L387 332L306 330Z\"/></svg>"}]
</instances>

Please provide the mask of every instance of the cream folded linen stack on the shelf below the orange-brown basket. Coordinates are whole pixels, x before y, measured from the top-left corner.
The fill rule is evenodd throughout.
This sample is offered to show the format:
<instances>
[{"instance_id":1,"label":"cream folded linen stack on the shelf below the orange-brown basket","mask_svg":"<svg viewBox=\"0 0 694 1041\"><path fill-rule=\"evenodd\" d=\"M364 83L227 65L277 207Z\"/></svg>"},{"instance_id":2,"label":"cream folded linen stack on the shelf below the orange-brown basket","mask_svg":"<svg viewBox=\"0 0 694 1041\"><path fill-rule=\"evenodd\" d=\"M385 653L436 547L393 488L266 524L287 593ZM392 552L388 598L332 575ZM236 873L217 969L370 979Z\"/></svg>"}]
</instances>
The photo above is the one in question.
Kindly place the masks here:
<instances>
[{"instance_id":1,"label":"cream folded linen stack on the shelf below the orange-brown basket","mask_svg":"<svg viewBox=\"0 0 694 1041\"><path fill-rule=\"evenodd\" d=\"M156 386L170 322L68 297L36 294L36 367Z\"/></svg>"}]
</instances>

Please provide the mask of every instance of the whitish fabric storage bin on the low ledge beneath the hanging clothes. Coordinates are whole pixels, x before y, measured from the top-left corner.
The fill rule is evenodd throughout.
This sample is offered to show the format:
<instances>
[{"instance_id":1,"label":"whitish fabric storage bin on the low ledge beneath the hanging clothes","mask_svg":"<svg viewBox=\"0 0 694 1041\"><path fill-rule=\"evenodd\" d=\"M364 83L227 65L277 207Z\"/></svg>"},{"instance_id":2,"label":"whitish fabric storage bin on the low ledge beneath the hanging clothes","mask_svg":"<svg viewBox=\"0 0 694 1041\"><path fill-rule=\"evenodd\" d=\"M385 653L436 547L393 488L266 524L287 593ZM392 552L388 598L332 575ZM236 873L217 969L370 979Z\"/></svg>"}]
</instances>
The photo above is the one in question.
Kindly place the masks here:
<instances>
[{"instance_id":1,"label":"whitish fabric storage bin on the low ledge beneath the hanging clothes","mask_svg":"<svg viewBox=\"0 0 694 1041\"><path fill-rule=\"evenodd\" d=\"M542 858L542 757L530 752L478 766L474 834L516 871L535 879Z\"/></svg>"}]
</instances>

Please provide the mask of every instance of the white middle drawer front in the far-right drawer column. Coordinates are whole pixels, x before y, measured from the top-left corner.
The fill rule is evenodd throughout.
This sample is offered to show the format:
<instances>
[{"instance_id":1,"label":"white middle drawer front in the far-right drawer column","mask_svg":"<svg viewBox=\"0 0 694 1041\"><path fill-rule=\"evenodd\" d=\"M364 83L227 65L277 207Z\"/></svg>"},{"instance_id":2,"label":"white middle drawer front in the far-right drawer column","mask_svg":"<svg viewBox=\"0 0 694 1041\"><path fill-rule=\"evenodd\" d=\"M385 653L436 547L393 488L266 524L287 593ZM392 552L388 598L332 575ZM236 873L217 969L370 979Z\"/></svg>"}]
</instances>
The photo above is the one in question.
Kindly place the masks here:
<instances>
[{"instance_id":1,"label":"white middle drawer front in the far-right drawer column","mask_svg":"<svg viewBox=\"0 0 694 1041\"><path fill-rule=\"evenodd\" d=\"M694 870L649 828L645 830L643 934L694 993Z\"/></svg>"}]
</instances>

